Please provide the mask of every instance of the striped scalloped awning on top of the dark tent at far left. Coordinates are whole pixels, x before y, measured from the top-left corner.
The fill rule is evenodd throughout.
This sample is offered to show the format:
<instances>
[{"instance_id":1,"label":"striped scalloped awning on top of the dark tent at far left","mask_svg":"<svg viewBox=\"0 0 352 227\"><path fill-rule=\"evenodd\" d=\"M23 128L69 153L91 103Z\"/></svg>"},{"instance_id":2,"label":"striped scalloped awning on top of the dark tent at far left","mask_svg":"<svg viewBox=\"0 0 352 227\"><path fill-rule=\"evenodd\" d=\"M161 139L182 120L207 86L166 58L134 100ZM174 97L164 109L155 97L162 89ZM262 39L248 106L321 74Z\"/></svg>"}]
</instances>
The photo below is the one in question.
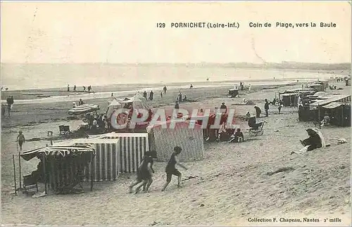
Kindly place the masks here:
<instances>
[{"instance_id":1,"label":"striped scalloped awning on top of the dark tent at far left","mask_svg":"<svg viewBox=\"0 0 352 227\"><path fill-rule=\"evenodd\" d=\"M24 160L29 161L33 157L44 153L46 156L57 156L61 155L65 157L71 153L83 153L83 152L94 152L95 148L92 144L82 144L82 145L51 145L44 148L37 148L34 150L27 150L21 153L21 157Z\"/></svg>"}]
</instances>

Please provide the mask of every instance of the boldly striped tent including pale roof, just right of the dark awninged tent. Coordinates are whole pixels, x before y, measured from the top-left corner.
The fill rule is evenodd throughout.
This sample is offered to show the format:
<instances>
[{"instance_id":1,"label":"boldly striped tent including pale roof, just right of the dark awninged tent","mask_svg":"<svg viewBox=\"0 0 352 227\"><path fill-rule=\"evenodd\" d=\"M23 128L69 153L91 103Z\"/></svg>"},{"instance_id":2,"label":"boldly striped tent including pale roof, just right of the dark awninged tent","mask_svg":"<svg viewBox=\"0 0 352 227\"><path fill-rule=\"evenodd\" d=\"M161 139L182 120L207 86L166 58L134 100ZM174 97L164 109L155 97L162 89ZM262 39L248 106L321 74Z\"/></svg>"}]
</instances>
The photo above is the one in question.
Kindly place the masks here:
<instances>
[{"instance_id":1,"label":"boldly striped tent including pale roof, just right of the dark awninged tent","mask_svg":"<svg viewBox=\"0 0 352 227\"><path fill-rule=\"evenodd\" d=\"M87 168L84 181L115 181L116 179L118 179L118 176L120 174L118 138L79 138L58 144L63 145L67 143L74 145L94 145L96 155L93 158L92 166L89 165L89 167Z\"/></svg>"}]
</instances>

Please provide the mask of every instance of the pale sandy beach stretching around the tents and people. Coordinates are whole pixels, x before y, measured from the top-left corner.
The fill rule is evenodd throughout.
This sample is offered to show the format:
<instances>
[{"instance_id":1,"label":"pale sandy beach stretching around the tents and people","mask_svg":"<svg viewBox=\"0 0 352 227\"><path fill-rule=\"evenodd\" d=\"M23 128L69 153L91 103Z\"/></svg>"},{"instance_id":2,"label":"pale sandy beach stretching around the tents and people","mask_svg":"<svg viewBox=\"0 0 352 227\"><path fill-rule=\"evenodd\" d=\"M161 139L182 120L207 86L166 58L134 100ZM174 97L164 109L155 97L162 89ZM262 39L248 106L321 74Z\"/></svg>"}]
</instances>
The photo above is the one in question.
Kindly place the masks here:
<instances>
[{"instance_id":1,"label":"pale sandy beach stretching around the tents and people","mask_svg":"<svg viewBox=\"0 0 352 227\"><path fill-rule=\"evenodd\" d=\"M350 87L334 83L343 90L328 93L350 94ZM154 181L150 193L128 194L127 187L135 174L122 174L118 181L83 183L85 193L46 197L17 196L13 191L12 155L17 155L15 138L22 129L27 139L25 150L49 143L46 132L58 135L58 125L70 124L75 129L81 120L67 111L72 102L14 105L11 118L1 122L1 219L2 224L30 225L114 225L114 226L346 226L351 221L351 128L322 127L322 134L331 146L302 155L290 155L301 149L299 139L306 138L306 129L313 122L299 122L296 108L270 105L263 136L249 138L247 122L241 117L254 112L253 105L236 105L243 98L263 109L264 99L272 100L275 92L301 87L301 83L280 86L253 86L251 92L241 92L240 98L227 98L230 85L182 89L192 102L184 108L214 108L225 102L235 108L237 124L244 131L244 143L206 143L204 160L185 163L183 186L177 189L176 179L161 193L165 182L165 162L155 162ZM179 89L161 98L154 91L154 108L174 105ZM101 105L105 112L106 98L87 99ZM261 118L260 118L261 120ZM338 138L347 143L338 145ZM17 161L17 160L16 160ZM36 169L36 160L22 161L22 173ZM276 171L276 172L275 172ZM18 169L17 169L18 172ZM43 190L43 186L40 186ZM251 219L319 219L319 222L258 222ZM331 223L329 219L341 222Z\"/></svg>"}]
</instances>

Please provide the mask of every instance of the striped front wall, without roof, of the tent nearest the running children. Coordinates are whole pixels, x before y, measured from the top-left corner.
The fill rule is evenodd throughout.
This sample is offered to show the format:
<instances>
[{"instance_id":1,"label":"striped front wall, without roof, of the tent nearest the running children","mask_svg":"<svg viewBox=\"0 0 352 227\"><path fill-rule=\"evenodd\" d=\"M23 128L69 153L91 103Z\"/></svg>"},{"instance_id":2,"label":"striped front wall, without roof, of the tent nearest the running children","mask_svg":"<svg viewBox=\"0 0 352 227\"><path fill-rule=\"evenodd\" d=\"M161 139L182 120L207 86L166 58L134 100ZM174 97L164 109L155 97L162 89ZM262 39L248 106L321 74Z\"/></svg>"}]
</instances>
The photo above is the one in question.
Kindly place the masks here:
<instances>
[{"instance_id":1,"label":"striped front wall, without roof, of the tent nearest the running children","mask_svg":"<svg viewBox=\"0 0 352 227\"><path fill-rule=\"evenodd\" d=\"M118 146L120 158L120 172L136 172L139 163L142 162L144 153L149 150L147 136L122 136Z\"/></svg>"}]
</instances>

